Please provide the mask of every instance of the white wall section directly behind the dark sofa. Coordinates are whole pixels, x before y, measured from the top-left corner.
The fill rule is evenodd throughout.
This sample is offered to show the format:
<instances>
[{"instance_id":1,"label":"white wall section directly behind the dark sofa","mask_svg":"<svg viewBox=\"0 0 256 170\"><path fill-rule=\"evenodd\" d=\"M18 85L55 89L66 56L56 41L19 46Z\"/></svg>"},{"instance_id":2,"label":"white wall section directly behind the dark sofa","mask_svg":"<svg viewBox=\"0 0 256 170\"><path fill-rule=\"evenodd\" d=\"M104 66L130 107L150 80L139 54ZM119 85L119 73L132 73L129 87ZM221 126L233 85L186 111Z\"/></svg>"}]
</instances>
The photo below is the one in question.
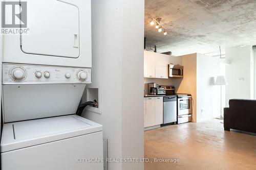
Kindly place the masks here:
<instances>
[{"instance_id":1,"label":"white wall section directly behind the dark sofa","mask_svg":"<svg viewBox=\"0 0 256 170\"><path fill-rule=\"evenodd\" d=\"M253 99L252 46L226 48L226 106L230 99Z\"/></svg>"}]
</instances>

